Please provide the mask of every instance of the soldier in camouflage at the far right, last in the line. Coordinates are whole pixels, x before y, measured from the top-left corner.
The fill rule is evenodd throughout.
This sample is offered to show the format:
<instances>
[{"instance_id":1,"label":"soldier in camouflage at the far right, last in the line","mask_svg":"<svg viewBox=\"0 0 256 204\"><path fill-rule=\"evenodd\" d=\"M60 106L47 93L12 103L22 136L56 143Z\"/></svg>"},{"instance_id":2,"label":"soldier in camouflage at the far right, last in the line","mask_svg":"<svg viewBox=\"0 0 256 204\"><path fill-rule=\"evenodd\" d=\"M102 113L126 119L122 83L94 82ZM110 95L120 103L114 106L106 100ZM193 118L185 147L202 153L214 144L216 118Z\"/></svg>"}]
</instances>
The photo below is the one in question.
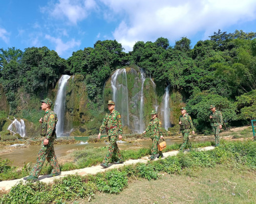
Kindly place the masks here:
<instances>
[{"instance_id":1,"label":"soldier in camouflage at the far right, last in the line","mask_svg":"<svg viewBox=\"0 0 256 204\"><path fill-rule=\"evenodd\" d=\"M222 129L223 119L220 111L217 111L214 105L210 106L210 125L214 132L216 146L220 145L220 129Z\"/></svg>"}]
</instances>

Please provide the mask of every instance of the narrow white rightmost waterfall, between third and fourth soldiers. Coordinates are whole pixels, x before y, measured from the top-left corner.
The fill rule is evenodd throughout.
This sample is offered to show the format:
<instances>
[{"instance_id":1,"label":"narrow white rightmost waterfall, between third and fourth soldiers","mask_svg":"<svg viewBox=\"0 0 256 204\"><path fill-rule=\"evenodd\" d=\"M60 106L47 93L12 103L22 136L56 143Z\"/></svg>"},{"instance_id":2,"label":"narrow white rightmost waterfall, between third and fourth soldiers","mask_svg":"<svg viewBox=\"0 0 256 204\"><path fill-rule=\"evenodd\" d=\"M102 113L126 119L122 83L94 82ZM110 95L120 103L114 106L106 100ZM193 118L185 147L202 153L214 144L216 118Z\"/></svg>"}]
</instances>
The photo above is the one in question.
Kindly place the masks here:
<instances>
[{"instance_id":1,"label":"narrow white rightmost waterfall, between third and fourth soldiers","mask_svg":"<svg viewBox=\"0 0 256 204\"><path fill-rule=\"evenodd\" d=\"M170 85L168 85L165 89L165 93L163 95L163 109L162 109L162 115L163 115L163 127L165 130L168 130L168 127L170 127L170 107L169 107L169 91L170 91Z\"/></svg>"}]
</instances>

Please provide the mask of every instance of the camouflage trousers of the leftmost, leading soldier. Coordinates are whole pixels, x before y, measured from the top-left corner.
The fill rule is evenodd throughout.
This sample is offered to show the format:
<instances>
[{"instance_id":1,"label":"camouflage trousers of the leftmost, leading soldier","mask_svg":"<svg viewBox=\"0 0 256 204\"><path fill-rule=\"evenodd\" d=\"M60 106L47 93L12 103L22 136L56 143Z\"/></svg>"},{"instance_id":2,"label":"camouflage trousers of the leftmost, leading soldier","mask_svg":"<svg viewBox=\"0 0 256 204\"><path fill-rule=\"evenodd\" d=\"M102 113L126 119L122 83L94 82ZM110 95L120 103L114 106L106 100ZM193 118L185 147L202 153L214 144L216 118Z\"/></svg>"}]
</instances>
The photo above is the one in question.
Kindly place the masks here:
<instances>
[{"instance_id":1,"label":"camouflage trousers of the leftmost, leading soldier","mask_svg":"<svg viewBox=\"0 0 256 204\"><path fill-rule=\"evenodd\" d=\"M37 155L36 164L30 173L31 175L38 177L42 165L44 165L46 159L49 162L49 164L53 167L52 173L60 172L59 164L53 148L53 143L54 139L50 139L48 145L44 145L44 139L42 140L41 148Z\"/></svg>"}]
</instances>

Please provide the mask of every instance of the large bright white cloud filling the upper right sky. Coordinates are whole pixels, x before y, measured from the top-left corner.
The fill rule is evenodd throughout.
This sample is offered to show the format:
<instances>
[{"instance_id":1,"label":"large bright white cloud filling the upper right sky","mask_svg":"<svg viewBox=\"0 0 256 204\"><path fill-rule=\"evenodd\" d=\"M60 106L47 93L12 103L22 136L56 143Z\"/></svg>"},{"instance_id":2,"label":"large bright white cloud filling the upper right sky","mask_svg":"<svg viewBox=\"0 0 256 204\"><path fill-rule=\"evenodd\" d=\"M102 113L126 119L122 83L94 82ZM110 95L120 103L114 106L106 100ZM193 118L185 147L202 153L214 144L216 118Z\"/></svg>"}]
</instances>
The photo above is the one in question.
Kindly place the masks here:
<instances>
[{"instance_id":1,"label":"large bright white cloud filling the upper right sky","mask_svg":"<svg viewBox=\"0 0 256 204\"><path fill-rule=\"evenodd\" d=\"M101 0L122 20L113 32L126 51L136 41L155 41L165 37L171 41L205 32L205 36L224 27L256 19L255 0Z\"/></svg>"}]
</instances>

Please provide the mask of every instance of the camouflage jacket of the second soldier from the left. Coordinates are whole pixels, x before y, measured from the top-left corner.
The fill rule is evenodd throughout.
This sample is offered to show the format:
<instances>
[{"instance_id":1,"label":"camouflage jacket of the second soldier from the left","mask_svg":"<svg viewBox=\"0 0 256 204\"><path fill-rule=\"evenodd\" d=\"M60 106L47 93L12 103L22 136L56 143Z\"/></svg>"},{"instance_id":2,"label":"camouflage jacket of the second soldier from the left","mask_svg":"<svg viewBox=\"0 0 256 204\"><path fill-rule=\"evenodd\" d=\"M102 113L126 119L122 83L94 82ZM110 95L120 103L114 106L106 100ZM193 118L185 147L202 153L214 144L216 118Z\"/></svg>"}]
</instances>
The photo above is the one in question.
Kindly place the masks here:
<instances>
[{"instance_id":1,"label":"camouflage jacket of the second soldier from the left","mask_svg":"<svg viewBox=\"0 0 256 204\"><path fill-rule=\"evenodd\" d=\"M112 129L110 129L113 126L117 126L114 127ZM122 121L121 121L121 115L118 111L113 110L112 113L106 113L102 125L99 128L99 133L102 133L102 131L108 128L109 132L108 135L122 135L123 131L122 131Z\"/></svg>"}]
</instances>

